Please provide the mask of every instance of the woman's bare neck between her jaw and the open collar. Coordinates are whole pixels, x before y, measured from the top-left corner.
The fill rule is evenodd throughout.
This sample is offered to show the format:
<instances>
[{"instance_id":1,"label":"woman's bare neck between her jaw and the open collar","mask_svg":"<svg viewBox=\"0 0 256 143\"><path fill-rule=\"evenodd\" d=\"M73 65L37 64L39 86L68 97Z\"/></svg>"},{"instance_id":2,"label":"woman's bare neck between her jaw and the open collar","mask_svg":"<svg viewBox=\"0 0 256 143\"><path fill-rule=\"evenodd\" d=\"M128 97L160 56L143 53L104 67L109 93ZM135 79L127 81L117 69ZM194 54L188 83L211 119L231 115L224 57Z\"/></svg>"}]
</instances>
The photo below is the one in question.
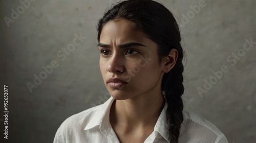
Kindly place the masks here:
<instances>
[{"instance_id":1,"label":"woman's bare neck between her jaw and the open collar","mask_svg":"<svg viewBox=\"0 0 256 143\"><path fill-rule=\"evenodd\" d=\"M155 126L164 106L161 92L132 99L115 100L111 107L112 124L138 128Z\"/></svg>"}]
</instances>

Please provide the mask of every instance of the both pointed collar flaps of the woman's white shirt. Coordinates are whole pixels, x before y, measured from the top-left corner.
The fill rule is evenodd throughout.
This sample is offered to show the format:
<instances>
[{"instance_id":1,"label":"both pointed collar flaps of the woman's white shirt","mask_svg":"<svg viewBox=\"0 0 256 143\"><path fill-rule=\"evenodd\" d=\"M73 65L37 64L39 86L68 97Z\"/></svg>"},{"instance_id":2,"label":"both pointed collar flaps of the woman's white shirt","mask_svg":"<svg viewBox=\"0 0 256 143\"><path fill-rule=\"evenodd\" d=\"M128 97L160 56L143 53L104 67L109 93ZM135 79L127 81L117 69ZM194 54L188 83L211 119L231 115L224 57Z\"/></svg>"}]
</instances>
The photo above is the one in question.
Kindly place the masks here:
<instances>
[{"instance_id":1,"label":"both pointed collar flaps of the woman's white shirt","mask_svg":"<svg viewBox=\"0 0 256 143\"><path fill-rule=\"evenodd\" d=\"M89 122L89 124L84 128L84 130L92 129L96 126L99 126L99 129L102 133L106 134L106 132L110 131L110 121L109 121L109 114L110 114L110 108L115 99L113 97L110 97L105 103L97 106L95 109L95 115ZM154 133L157 135L157 132L167 141L168 140L168 125L167 125L167 119L166 119L166 109L167 109L167 102L165 102L165 105L163 107L163 110L157 120L157 123L154 128Z\"/></svg>"}]
</instances>

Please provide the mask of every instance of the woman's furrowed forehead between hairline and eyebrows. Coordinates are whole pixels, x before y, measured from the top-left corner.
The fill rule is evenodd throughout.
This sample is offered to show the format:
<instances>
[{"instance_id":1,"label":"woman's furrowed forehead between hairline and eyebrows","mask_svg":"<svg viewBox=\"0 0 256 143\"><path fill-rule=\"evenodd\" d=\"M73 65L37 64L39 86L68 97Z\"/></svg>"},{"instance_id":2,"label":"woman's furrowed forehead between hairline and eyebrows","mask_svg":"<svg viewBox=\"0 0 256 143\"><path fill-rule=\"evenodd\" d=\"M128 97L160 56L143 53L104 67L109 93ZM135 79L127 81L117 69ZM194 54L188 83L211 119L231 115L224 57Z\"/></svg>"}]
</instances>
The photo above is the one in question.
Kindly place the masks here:
<instances>
[{"instance_id":1,"label":"woman's furrowed forehead between hairline and eyebrows","mask_svg":"<svg viewBox=\"0 0 256 143\"><path fill-rule=\"evenodd\" d=\"M115 19L106 22L100 34L100 42L115 40L117 43L126 41L143 41L147 36L135 27L135 23L126 19Z\"/></svg>"}]
</instances>

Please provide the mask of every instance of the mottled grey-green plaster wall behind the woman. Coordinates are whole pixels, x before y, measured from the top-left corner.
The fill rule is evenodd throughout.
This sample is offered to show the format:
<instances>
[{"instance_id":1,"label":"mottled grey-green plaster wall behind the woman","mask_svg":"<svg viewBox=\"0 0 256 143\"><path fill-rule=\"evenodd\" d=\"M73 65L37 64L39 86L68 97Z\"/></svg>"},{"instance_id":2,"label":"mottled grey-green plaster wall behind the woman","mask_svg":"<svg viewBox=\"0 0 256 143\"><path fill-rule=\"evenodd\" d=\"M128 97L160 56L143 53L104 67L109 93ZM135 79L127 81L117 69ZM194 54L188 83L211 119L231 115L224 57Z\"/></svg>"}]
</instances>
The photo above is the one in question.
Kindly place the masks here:
<instances>
[{"instance_id":1,"label":"mottled grey-green plaster wall behind the woman","mask_svg":"<svg viewBox=\"0 0 256 143\"><path fill-rule=\"evenodd\" d=\"M12 9L17 11L22 4L19 0L1 1L1 86L9 89L9 142L52 142L65 119L110 97L98 66L96 23L113 2L36 0L8 27L4 17L12 18ZM245 39L256 41L256 1L206 1L195 15L190 6L198 5L199 0L158 2L172 11L179 23L183 19L186 108L215 124L229 142L256 142L256 44L242 50ZM182 15L187 13L185 21ZM61 61L57 52L80 33L87 39ZM238 51L234 63L232 53ZM34 74L39 76L42 66L53 60L59 66L31 93L27 83L34 83ZM223 65L228 72L214 80L212 72ZM209 79L217 83L200 95L197 89L204 89ZM1 140L3 119L1 116Z\"/></svg>"}]
</instances>

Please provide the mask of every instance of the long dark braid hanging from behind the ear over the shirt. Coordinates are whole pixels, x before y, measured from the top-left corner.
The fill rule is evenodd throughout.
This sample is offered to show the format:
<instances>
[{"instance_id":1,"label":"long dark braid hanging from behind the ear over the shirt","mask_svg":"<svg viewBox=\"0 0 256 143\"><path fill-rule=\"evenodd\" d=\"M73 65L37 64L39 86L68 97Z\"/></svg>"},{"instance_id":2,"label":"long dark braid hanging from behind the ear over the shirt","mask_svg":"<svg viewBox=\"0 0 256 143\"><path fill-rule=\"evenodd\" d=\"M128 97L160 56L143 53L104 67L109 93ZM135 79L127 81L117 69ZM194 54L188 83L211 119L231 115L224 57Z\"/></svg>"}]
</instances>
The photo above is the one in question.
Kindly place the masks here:
<instances>
[{"instance_id":1,"label":"long dark braid hanging from behind the ear over the shirt","mask_svg":"<svg viewBox=\"0 0 256 143\"><path fill-rule=\"evenodd\" d=\"M179 49L179 48L178 48ZM178 50L179 51L179 50ZM181 95L184 93L183 75L183 52L179 51L178 60L175 67L165 73L162 81L162 91L167 100L166 117L168 122L169 140L171 143L177 143L180 135L180 127L183 122L183 102Z\"/></svg>"}]
</instances>

